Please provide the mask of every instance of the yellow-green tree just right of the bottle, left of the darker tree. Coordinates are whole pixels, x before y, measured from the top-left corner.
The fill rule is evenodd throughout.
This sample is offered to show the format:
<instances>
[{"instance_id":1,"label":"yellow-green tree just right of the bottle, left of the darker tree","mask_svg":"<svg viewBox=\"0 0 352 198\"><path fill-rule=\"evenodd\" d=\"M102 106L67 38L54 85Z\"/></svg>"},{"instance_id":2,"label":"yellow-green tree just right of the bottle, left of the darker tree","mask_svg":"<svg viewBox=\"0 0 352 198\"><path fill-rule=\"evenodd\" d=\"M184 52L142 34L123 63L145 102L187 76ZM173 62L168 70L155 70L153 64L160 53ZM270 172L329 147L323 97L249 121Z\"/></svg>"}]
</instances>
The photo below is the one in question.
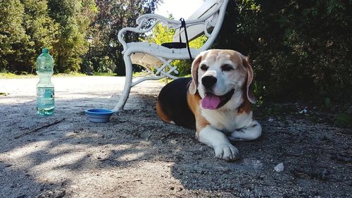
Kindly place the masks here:
<instances>
[{"instance_id":1,"label":"yellow-green tree just right of the bottle, left of the darker tree","mask_svg":"<svg viewBox=\"0 0 352 198\"><path fill-rule=\"evenodd\" d=\"M80 70L82 56L88 51L87 32L97 12L94 0L49 0L49 15L58 24L53 44L56 72Z\"/></svg>"}]
</instances>

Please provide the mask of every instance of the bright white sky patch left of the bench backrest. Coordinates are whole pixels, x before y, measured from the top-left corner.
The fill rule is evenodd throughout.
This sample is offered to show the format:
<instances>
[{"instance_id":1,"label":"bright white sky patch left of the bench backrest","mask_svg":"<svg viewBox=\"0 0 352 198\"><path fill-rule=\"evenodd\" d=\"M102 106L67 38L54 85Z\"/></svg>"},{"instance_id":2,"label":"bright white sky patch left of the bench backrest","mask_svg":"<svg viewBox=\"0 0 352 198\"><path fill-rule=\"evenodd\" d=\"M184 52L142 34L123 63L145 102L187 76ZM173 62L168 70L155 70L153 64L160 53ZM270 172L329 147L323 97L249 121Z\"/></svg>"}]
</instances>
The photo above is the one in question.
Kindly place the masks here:
<instances>
[{"instance_id":1,"label":"bright white sky patch left of the bench backrest","mask_svg":"<svg viewBox=\"0 0 352 198\"><path fill-rule=\"evenodd\" d=\"M164 0L164 3L158 7L155 13L167 18L172 13L175 20L187 19L201 7L201 4L203 4L203 0Z\"/></svg>"}]
</instances>

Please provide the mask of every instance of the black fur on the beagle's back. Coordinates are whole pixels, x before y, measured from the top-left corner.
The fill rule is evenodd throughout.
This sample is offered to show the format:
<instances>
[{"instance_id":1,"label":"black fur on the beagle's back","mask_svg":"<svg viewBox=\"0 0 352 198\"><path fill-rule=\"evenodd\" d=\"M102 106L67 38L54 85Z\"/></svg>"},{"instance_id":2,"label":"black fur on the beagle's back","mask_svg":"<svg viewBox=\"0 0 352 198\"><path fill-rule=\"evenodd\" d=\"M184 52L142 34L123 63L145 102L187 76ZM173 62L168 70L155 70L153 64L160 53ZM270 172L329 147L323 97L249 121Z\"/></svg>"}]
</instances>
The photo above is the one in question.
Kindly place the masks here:
<instances>
[{"instance_id":1,"label":"black fur on the beagle's back","mask_svg":"<svg viewBox=\"0 0 352 198\"><path fill-rule=\"evenodd\" d=\"M187 92L191 78L178 78L165 85L158 96L163 112L175 124L185 128L196 128L196 119L187 103Z\"/></svg>"}]
</instances>

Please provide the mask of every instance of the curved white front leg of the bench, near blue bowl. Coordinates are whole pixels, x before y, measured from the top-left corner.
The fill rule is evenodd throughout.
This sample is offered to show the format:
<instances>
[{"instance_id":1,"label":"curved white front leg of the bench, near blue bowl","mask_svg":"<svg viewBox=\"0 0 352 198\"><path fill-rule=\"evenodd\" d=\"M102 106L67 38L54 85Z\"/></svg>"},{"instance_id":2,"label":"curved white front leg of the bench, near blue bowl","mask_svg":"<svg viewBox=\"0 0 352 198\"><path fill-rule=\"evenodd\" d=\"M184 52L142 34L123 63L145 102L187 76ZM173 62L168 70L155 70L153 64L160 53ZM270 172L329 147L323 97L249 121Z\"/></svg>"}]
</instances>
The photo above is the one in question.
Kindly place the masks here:
<instances>
[{"instance_id":1,"label":"curved white front leg of the bench, near blue bowl","mask_svg":"<svg viewBox=\"0 0 352 198\"><path fill-rule=\"evenodd\" d=\"M128 96L130 95L130 90L132 87L132 61L130 58L130 54L124 54L123 60L125 61L126 68L125 87L123 88L118 104L116 104L113 111L121 111L123 109L128 99Z\"/></svg>"}]
</instances>

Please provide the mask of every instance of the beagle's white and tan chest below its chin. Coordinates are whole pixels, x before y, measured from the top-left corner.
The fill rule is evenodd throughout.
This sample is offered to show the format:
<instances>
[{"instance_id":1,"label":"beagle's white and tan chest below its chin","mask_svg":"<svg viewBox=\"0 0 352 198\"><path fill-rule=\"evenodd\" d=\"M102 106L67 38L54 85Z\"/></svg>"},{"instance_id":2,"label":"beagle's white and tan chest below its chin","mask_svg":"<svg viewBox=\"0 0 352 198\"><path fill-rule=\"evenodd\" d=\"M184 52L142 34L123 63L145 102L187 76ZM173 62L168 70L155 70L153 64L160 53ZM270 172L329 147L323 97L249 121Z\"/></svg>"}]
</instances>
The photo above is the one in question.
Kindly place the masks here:
<instances>
[{"instance_id":1,"label":"beagle's white and tan chest below its chin","mask_svg":"<svg viewBox=\"0 0 352 198\"><path fill-rule=\"evenodd\" d=\"M208 120L210 125L222 132L233 132L244 128L252 122L252 111L250 113L237 114L234 111L202 110L202 116Z\"/></svg>"}]
</instances>

